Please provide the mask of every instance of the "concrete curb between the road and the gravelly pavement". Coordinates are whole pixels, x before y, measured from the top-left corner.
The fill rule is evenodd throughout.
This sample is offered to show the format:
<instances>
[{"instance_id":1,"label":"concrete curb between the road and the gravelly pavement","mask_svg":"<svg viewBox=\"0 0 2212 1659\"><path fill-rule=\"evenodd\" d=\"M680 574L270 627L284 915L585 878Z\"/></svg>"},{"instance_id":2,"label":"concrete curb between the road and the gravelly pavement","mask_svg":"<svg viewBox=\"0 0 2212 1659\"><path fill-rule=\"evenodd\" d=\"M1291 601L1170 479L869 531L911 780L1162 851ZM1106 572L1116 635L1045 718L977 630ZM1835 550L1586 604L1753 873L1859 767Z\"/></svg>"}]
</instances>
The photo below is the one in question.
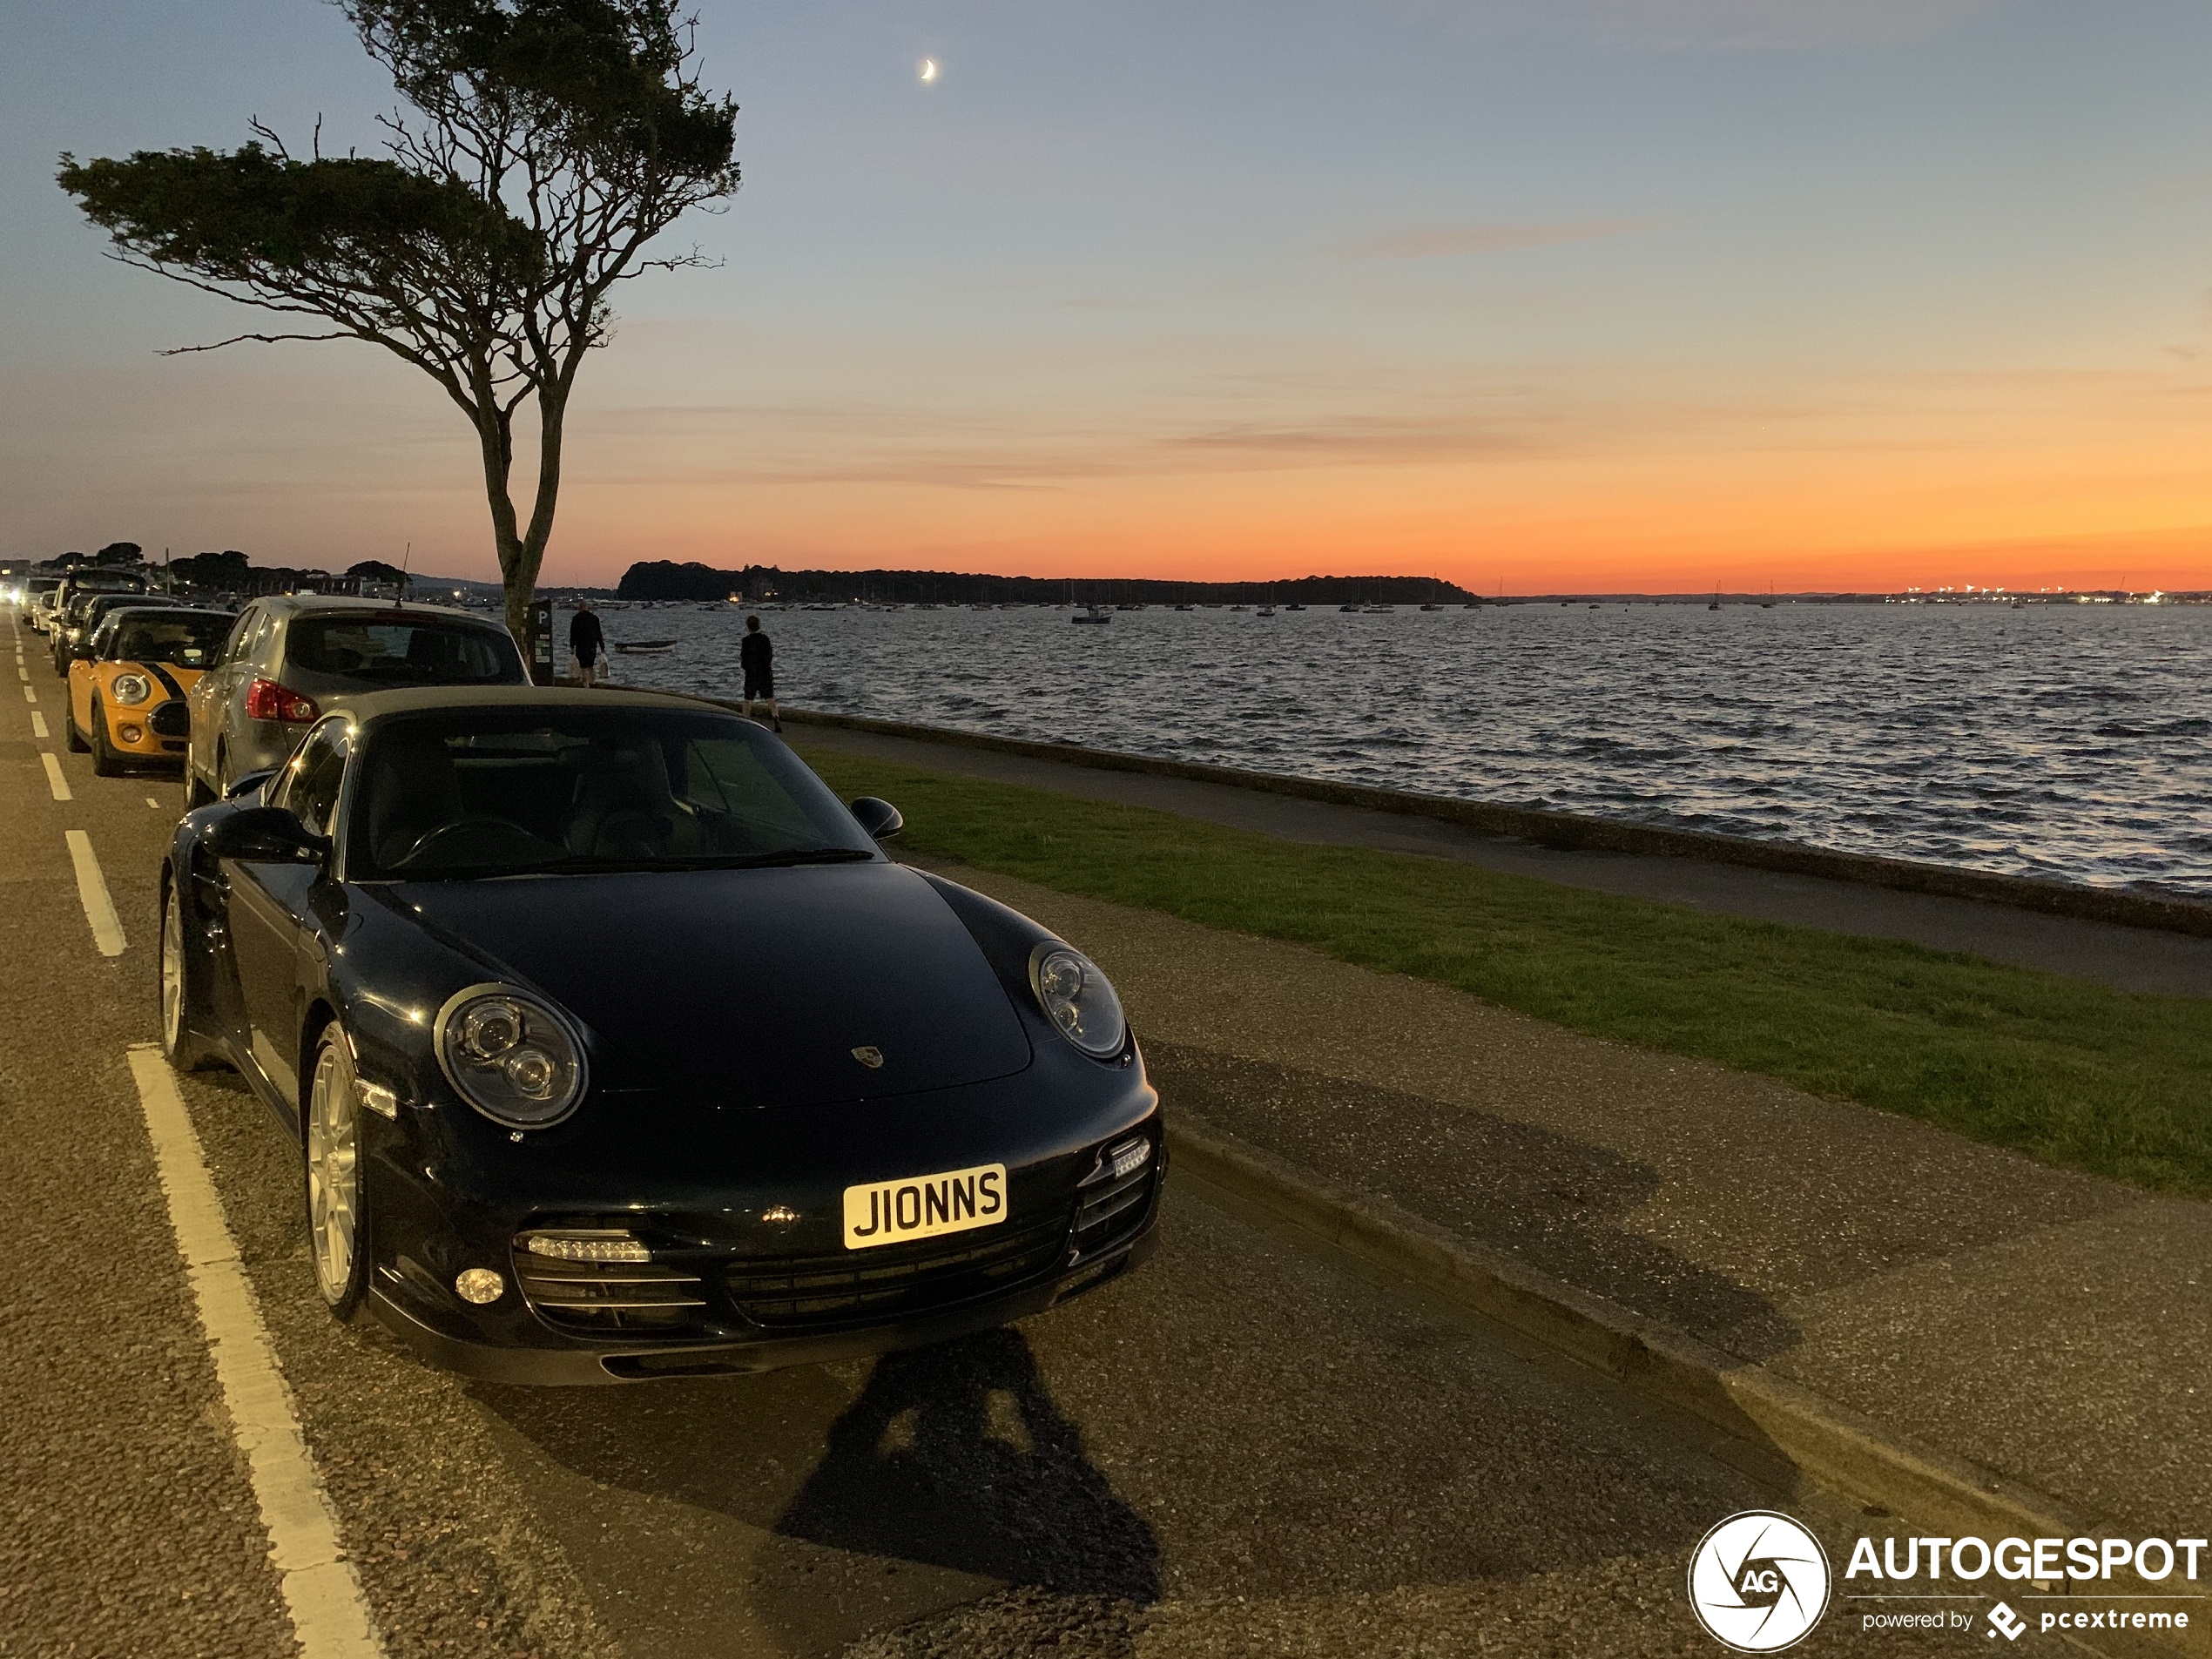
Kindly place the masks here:
<instances>
[{"instance_id":1,"label":"concrete curb between the road and the gravelly pavement","mask_svg":"<svg viewBox=\"0 0 2212 1659\"><path fill-rule=\"evenodd\" d=\"M1506 1325L1783 1458L1805 1475L1953 1537L2077 1537L2090 1517L1962 1458L1913 1447L1871 1418L1677 1329L1460 1239L1389 1199L1354 1192L1177 1110L1172 1168L1338 1250ZM1172 1179L1172 1177L1170 1177ZM2115 1528L2117 1531L2117 1528Z\"/></svg>"}]
</instances>

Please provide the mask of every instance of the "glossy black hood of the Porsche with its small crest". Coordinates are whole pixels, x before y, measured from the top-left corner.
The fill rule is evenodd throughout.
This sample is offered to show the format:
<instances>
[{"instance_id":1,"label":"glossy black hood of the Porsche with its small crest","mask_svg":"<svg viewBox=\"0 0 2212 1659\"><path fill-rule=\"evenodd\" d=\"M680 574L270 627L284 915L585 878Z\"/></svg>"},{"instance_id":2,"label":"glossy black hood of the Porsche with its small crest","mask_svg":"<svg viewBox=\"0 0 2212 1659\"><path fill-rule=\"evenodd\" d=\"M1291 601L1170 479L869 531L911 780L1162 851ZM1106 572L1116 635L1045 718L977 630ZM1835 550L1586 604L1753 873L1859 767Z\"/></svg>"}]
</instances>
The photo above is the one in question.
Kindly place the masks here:
<instances>
[{"instance_id":1,"label":"glossy black hood of the Porsche with its small crest","mask_svg":"<svg viewBox=\"0 0 2212 1659\"><path fill-rule=\"evenodd\" d=\"M991 964L889 863L405 883L380 896L593 1033L595 1093L827 1106L1029 1066ZM876 1051L869 1066L854 1051Z\"/></svg>"}]
</instances>

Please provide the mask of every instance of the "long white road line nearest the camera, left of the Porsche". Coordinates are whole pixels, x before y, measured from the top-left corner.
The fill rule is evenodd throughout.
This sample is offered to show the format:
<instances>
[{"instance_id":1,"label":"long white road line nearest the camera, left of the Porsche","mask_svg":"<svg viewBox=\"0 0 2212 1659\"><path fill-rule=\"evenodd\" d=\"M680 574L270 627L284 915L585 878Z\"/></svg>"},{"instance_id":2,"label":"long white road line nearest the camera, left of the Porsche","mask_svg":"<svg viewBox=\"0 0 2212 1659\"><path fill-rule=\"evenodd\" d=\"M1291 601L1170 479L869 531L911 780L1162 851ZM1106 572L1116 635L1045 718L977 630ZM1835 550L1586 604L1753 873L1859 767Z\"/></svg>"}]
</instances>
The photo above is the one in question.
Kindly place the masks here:
<instances>
[{"instance_id":1,"label":"long white road line nearest the camera, left of the Porsche","mask_svg":"<svg viewBox=\"0 0 2212 1659\"><path fill-rule=\"evenodd\" d=\"M177 1230L177 1254L184 1256L184 1274L199 1305L215 1380L230 1411L230 1433L246 1453L261 1524L270 1535L270 1564L283 1586L301 1655L376 1659L380 1648L369 1606L361 1597L361 1579L338 1548L338 1513L314 1473L307 1438L292 1409L292 1389L285 1387L254 1287L230 1241L223 1201L215 1194L184 1095L150 1042L133 1044L128 1057L146 1108L161 1192L168 1194L168 1221Z\"/></svg>"}]
</instances>

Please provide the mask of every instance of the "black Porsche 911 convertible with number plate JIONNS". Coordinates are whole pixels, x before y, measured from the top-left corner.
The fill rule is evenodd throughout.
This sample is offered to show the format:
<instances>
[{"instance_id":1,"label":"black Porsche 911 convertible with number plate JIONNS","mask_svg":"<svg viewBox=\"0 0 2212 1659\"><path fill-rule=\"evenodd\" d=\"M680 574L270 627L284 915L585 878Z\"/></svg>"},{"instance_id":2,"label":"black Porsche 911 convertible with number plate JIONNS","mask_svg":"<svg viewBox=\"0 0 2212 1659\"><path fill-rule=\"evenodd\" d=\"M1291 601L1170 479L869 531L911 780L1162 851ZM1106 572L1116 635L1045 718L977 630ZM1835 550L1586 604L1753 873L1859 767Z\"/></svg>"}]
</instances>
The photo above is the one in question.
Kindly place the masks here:
<instances>
[{"instance_id":1,"label":"black Porsche 911 convertible with number plate JIONNS","mask_svg":"<svg viewBox=\"0 0 2212 1659\"><path fill-rule=\"evenodd\" d=\"M179 823L161 1042L299 1137L332 1312L453 1369L1002 1325L1146 1254L1159 1097L1097 967L896 830L688 699L365 695Z\"/></svg>"}]
</instances>

